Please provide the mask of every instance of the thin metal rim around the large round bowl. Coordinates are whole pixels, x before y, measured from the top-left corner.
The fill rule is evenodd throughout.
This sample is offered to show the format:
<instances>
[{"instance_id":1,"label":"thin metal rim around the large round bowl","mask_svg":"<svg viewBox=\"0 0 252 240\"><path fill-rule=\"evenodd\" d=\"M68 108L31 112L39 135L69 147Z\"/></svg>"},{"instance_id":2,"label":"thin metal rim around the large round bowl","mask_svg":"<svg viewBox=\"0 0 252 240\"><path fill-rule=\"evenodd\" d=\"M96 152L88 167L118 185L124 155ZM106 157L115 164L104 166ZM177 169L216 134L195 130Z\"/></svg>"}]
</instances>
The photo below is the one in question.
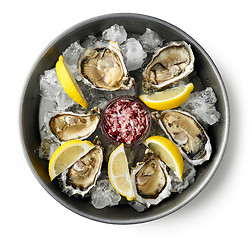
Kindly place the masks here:
<instances>
[{"instance_id":1,"label":"thin metal rim around the large round bowl","mask_svg":"<svg viewBox=\"0 0 252 240\"><path fill-rule=\"evenodd\" d=\"M215 76L218 79L218 83L220 85L221 88L221 92L223 93L223 105L225 105L224 111L225 111L225 116L226 116L226 123L225 123L225 129L224 129L224 134L223 134L223 144L220 148L219 151L219 158L218 161L215 162L211 172L209 172L208 176L206 176L206 178L204 179L204 181L201 183L201 185L196 189L196 191L194 191L192 194L190 194L189 197L187 197L184 201L182 201L180 204L177 204L175 207L173 207L172 209L169 209L167 211L164 211L160 214L155 214L153 216L149 216L149 217L145 217L145 218L141 218L141 219L130 219L130 220L122 220L122 219L107 219L107 218L102 218L102 217L96 217L87 213L83 213L81 211L79 211L78 209L68 205L64 200L62 200L59 196L55 195L54 192L49 189L47 187L47 185L44 183L44 181L40 178L40 176L38 175L37 171L35 170L34 166L31 163L27 148L26 148L26 144L25 144L25 139L24 139L24 129L23 129L23 125L24 125L24 114L23 114L23 106L24 106L24 99L25 99L25 95L26 95L26 89L27 86L29 84L30 78L33 74L33 71L35 69L35 67L37 66L37 64L39 63L40 59L44 57L44 55L46 54L46 52L61 38L63 38L65 35L71 33L73 30L92 23L92 22L96 22L96 21L100 21L100 20L106 20L106 19L110 19L110 18L137 18L137 19L144 19L147 21L154 21L156 23L159 23L161 25L164 25L165 27L175 31L175 32L179 32L182 36L184 36L185 38L190 39L190 41L200 50L201 54L203 55L203 57L208 61L208 63L210 64ZM23 151L24 151L24 156L26 158L26 162L28 164L28 166L30 167L33 175L35 176L35 178L37 179L37 181L41 184L41 186L55 199L57 200L60 204L62 204L64 207L66 207L67 209L71 210L74 213L77 213L80 216L86 217L88 219L91 220L95 220L98 222L103 222L103 223L109 223L109 224L136 224L136 223L144 223L144 222L149 222L149 221L153 221L153 220L157 220L160 218L163 218L175 211L177 211L178 209L182 208L183 206L185 206L187 203L189 203L191 200L193 200L205 187L206 185L209 183L209 181L211 180L211 178L213 177L213 175L215 174L216 170L218 169L222 159L223 159L223 155L228 143L228 136L229 136L229 129L230 129L230 108L229 108L229 101L228 101L228 96L227 96L227 91L226 88L224 86L222 77L220 75L219 70L217 69L215 63L213 62L213 60L211 59L211 57L208 55L208 53L201 47L200 44L198 44L190 35L188 35L186 32L184 32L183 30L181 30L180 28L176 27L175 25L161 20L159 18L153 17L153 16L149 16L149 15L145 15L145 14L139 14L139 13L110 13L110 14L105 14L105 15L100 15L100 16L96 16L96 17L92 17L89 19L86 19L84 21L81 21L73 26L71 26L70 28L66 29L65 31L63 31L61 34L59 34L58 36L56 36L43 50L42 52L38 55L37 59L34 61L34 64L31 67L30 72L28 73L28 77L26 78L26 81L24 83L24 87L23 87L23 92L21 95L21 101L20 101L20 108L19 108L19 124L20 124L20 138L21 138L21 142L23 145Z\"/></svg>"}]
</instances>

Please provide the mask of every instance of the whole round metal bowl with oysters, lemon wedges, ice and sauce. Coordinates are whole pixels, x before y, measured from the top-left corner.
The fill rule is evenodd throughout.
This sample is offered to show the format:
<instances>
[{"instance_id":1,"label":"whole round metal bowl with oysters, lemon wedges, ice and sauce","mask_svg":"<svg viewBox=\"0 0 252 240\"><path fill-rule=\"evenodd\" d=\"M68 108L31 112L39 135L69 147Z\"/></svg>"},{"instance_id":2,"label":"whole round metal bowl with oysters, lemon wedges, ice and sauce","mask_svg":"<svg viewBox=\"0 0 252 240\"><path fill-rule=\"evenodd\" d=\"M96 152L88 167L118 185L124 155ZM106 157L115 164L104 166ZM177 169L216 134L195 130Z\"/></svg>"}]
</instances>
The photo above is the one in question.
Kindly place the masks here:
<instances>
[{"instance_id":1,"label":"whole round metal bowl with oysters, lemon wedges, ice and sauce","mask_svg":"<svg viewBox=\"0 0 252 240\"><path fill-rule=\"evenodd\" d=\"M89 219L155 220L191 201L224 154L229 107L205 50L179 28L110 14L66 30L24 90L28 164L44 189Z\"/></svg>"}]
</instances>

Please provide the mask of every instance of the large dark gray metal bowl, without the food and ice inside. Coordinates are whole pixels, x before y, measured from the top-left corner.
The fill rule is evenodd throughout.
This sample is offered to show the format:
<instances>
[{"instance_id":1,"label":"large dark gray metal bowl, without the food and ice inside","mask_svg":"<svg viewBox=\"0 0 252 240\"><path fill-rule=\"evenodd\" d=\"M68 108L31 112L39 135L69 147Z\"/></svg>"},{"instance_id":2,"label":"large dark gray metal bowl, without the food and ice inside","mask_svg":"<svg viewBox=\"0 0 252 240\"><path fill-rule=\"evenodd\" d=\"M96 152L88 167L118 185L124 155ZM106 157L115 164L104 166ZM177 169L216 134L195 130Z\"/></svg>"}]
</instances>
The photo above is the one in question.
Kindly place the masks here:
<instances>
[{"instance_id":1,"label":"large dark gray metal bowl, without the food and ice inside","mask_svg":"<svg viewBox=\"0 0 252 240\"><path fill-rule=\"evenodd\" d=\"M211 86L218 98L217 110L222 115L222 121L210 127L208 132L212 142L213 153L211 160L197 167L196 181L182 194L172 194L159 205L138 213L129 205L95 209L90 199L69 198L59 191L57 183L51 182L48 176L48 162L40 159L36 154L40 144L38 113L40 104L39 76L46 69L55 66L58 56L71 43L85 39L88 35L100 34L113 24L123 25L130 33L143 34L145 28L151 28L166 40L185 40L191 44L195 54L195 70L204 87ZM116 224L130 224L147 222L164 217L191 201L209 182L221 162L227 143L229 129L229 107L224 84L221 76L204 49L189 35L177 27L149 16L139 14L111 14L95 17L81 22L68 29L47 46L35 62L24 89L21 106L21 132L27 153L28 164L37 180L45 190L58 202L84 217Z\"/></svg>"}]
</instances>

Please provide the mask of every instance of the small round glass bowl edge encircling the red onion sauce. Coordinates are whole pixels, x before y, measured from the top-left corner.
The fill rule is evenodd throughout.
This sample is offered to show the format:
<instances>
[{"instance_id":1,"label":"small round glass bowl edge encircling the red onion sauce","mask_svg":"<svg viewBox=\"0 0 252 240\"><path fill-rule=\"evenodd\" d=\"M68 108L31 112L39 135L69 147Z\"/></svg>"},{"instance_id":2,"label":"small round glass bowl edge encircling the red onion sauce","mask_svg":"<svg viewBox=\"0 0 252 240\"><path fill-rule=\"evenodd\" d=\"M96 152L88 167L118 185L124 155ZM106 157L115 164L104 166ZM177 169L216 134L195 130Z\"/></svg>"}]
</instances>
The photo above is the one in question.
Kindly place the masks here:
<instances>
[{"instance_id":1,"label":"small round glass bowl edge encircling the red onion sauce","mask_svg":"<svg viewBox=\"0 0 252 240\"><path fill-rule=\"evenodd\" d=\"M105 137L112 143L112 144L115 144L116 146L119 146L122 142L118 142L116 141L115 139L113 139L107 132L107 129L105 127L105 121L104 121L104 118L105 118L105 115L106 115L106 110L108 108L110 108L114 103L116 103L117 101L121 101L121 100L124 100L124 99L128 99L130 101L133 101L133 102L137 102L141 107L142 109L146 112L147 114L147 120L148 120L148 125L145 129L145 131L142 133L142 135L140 135L134 142L130 143L130 144L127 144L127 143L124 143L124 146L125 147L132 147L134 145L138 145L140 143L142 143L146 138L147 136L149 135L150 133L150 129L151 129L151 112L150 112L150 109L141 101L139 100L138 98L135 98L135 97L131 97L131 96L120 96L120 97L117 97L117 98L114 98L113 100L111 100L107 105L106 107L103 109L102 111L102 114L101 114L101 129L102 129L102 132L103 134L105 135Z\"/></svg>"}]
</instances>

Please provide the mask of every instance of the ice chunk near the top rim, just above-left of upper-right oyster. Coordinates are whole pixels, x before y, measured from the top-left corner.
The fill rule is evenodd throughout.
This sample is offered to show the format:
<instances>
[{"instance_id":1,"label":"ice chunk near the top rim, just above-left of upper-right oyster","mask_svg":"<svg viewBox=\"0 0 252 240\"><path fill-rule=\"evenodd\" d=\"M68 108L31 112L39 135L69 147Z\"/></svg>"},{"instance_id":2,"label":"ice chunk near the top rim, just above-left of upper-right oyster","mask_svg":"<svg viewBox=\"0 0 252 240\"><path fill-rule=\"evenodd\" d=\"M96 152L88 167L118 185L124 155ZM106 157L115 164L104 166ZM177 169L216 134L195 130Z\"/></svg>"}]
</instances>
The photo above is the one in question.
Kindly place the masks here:
<instances>
[{"instance_id":1,"label":"ice chunk near the top rim, just above-left of upper-right oyster","mask_svg":"<svg viewBox=\"0 0 252 240\"><path fill-rule=\"evenodd\" d=\"M163 44L163 39L158 33L149 28L139 37L139 41L146 52L156 52Z\"/></svg>"}]
</instances>

